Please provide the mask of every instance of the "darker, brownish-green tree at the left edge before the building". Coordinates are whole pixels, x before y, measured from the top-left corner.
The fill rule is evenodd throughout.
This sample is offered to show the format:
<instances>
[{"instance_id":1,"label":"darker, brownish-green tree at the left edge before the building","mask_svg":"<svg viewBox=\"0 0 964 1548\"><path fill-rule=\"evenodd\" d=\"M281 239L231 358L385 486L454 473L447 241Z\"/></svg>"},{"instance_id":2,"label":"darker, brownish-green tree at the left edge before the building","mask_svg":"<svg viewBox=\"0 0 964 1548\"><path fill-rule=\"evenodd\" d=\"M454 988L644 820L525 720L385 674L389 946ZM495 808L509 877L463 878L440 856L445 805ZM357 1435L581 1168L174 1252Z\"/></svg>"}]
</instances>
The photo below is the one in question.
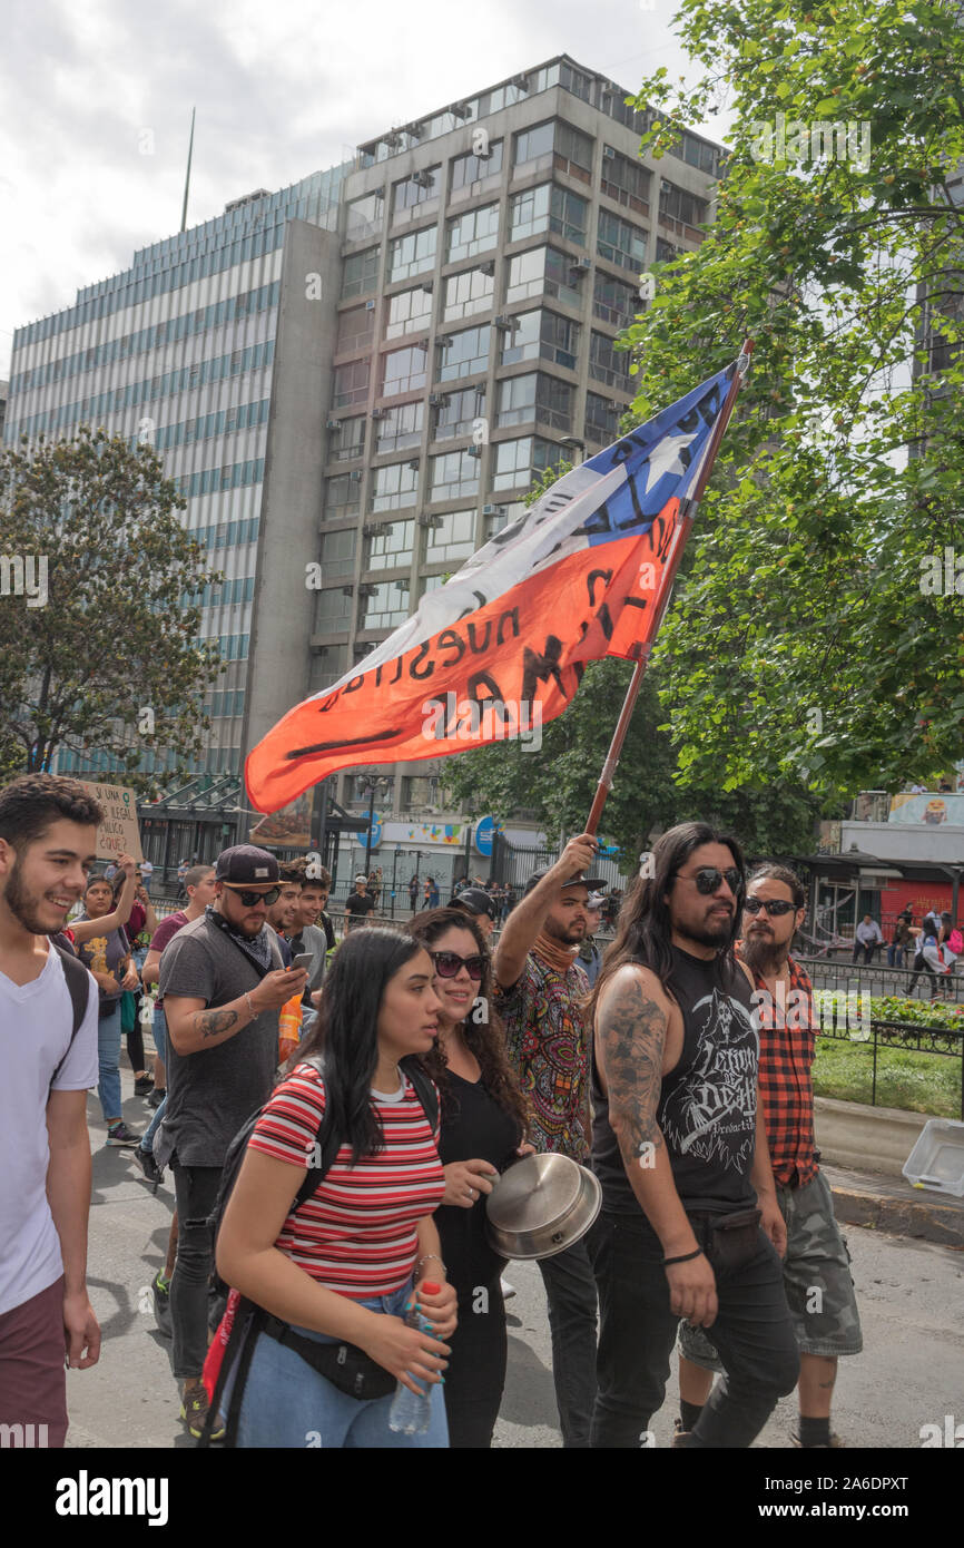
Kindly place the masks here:
<instances>
[{"instance_id":1,"label":"darker, brownish-green tree at the left edge before the building","mask_svg":"<svg viewBox=\"0 0 964 1548\"><path fill-rule=\"evenodd\" d=\"M200 697L221 670L197 642L201 588L220 580L178 520L150 446L102 430L0 455L0 768L50 768L59 748L105 754L141 793L145 752L198 754Z\"/></svg>"}]
</instances>

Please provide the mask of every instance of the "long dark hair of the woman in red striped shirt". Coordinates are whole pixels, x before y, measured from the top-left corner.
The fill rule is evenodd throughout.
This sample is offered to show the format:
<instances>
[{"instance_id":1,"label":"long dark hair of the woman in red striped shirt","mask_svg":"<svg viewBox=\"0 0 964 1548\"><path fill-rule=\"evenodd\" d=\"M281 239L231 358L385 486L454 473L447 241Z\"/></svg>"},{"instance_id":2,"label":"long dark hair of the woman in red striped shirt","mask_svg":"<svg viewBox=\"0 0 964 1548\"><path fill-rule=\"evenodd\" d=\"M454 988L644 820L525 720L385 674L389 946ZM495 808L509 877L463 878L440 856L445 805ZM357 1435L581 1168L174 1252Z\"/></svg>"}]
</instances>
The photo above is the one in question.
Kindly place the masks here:
<instances>
[{"instance_id":1,"label":"long dark hair of the woman in red striped shirt","mask_svg":"<svg viewBox=\"0 0 964 1548\"><path fill-rule=\"evenodd\" d=\"M378 1068L378 1012L385 986L419 950L401 930L368 926L345 937L325 974L319 1015L292 1063L325 1056L325 1102L351 1164L384 1146L382 1124L371 1102Z\"/></svg>"}]
</instances>

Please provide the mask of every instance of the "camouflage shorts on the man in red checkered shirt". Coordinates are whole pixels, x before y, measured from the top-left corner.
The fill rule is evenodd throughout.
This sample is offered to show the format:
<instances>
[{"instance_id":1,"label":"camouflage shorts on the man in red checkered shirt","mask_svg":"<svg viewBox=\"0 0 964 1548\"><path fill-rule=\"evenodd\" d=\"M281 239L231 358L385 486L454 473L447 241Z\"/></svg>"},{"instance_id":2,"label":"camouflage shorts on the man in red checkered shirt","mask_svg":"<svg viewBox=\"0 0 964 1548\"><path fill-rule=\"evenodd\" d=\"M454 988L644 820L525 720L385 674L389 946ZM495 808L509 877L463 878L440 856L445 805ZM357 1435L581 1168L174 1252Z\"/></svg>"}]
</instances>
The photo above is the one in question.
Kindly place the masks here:
<instances>
[{"instance_id":1,"label":"camouflage shorts on the man in red checkered shirt","mask_svg":"<svg viewBox=\"0 0 964 1548\"><path fill-rule=\"evenodd\" d=\"M859 1354L860 1314L849 1272L846 1240L834 1218L834 1200L822 1172L805 1187L777 1187L786 1220L783 1288L802 1354ZM679 1350L695 1365L721 1372L712 1330L679 1324Z\"/></svg>"}]
</instances>

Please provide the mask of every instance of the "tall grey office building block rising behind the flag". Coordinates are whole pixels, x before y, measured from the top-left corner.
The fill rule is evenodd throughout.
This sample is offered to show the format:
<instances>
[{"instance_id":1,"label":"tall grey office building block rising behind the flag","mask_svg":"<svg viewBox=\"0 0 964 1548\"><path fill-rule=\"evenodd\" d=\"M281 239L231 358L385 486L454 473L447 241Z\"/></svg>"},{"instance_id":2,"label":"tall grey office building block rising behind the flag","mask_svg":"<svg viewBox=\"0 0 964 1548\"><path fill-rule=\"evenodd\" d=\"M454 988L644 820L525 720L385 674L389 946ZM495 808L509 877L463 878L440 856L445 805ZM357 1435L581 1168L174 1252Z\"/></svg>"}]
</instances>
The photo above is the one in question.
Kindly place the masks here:
<instances>
[{"instance_id":1,"label":"tall grey office building block rising behind the flag","mask_svg":"<svg viewBox=\"0 0 964 1548\"><path fill-rule=\"evenodd\" d=\"M641 272L701 241L723 155L684 133L641 159L648 121L625 96L557 57L19 331L8 438L80 420L136 438L153 416L227 571L204 611L229 658L209 769L237 771L364 659L540 471L616 437L633 379L614 341ZM438 805L432 768L382 771L379 805Z\"/></svg>"}]
</instances>

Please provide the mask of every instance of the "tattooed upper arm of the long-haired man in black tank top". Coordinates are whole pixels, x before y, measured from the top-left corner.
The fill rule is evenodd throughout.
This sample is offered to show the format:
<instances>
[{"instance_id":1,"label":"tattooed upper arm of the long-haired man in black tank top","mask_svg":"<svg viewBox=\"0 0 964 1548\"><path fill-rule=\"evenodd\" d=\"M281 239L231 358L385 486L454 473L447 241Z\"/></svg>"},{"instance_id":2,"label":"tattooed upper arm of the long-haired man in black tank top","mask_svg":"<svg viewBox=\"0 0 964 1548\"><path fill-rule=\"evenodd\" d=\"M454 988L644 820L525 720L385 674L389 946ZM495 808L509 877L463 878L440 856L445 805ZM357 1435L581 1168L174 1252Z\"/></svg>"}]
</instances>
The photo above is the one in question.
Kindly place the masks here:
<instances>
[{"instance_id":1,"label":"tattooed upper arm of the long-haired man in black tank top","mask_svg":"<svg viewBox=\"0 0 964 1548\"><path fill-rule=\"evenodd\" d=\"M638 978L616 985L599 1014L610 1124L627 1166L662 1146L656 1108L665 1033L665 1012Z\"/></svg>"}]
</instances>

